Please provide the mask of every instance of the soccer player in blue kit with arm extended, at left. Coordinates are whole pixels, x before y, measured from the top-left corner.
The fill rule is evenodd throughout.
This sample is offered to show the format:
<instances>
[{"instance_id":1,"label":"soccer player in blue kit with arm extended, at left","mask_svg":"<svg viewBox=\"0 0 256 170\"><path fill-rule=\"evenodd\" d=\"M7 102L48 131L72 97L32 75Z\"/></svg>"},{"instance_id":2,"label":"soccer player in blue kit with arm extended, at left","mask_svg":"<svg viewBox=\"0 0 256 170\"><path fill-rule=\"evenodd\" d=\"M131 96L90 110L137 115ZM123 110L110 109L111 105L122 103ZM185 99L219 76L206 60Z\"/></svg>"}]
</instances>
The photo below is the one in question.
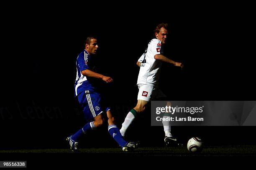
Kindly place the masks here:
<instances>
[{"instance_id":1,"label":"soccer player in blue kit with arm extended, at left","mask_svg":"<svg viewBox=\"0 0 256 170\"><path fill-rule=\"evenodd\" d=\"M81 129L67 138L72 151L77 150L79 138L89 130L96 130L103 124L103 114L107 112L108 132L114 140L120 145L123 151L133 150L136 146L133 142L126 142L119 129L115 125L114 117L110 108L102 108L101 97L97 89L93 87L91 78L100 79L106 83L113 82L113 79L92 71L92 60L97 53L98 43L95 37L87 37L85 40L85 49L77 57L77 78L75 81L75 97L77 97L80 106L84 112L84 117L88 121Z\"/></svg>"}]
</instances>

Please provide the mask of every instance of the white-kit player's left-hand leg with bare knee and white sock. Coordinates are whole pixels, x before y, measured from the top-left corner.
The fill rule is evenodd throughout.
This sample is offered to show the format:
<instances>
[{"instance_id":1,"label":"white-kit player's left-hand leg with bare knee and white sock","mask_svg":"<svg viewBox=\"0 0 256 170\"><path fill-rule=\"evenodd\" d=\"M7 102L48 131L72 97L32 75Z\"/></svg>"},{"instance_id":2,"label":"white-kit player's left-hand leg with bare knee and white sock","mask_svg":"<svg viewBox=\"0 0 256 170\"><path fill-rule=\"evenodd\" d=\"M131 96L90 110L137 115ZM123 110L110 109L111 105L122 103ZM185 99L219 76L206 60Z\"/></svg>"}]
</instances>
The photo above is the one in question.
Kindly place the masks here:
<instances>
[{"instance_id":1,"label":"white-kit player's left-hand leg with bare knee and white sock","mask_svg":"<svg viewBox=\"0 0 256 170\"><path fill-rule=\"evenodd\" d=\"M122 123L122 128L120 129L120 133L122 136L125 135L127 128L131 125L133 119L137 116L137 114L145 110L147 103L148 101L146 100L138 100L137 105L130 112L128 112L124 122Z\"/></svg>"}]
</instances>

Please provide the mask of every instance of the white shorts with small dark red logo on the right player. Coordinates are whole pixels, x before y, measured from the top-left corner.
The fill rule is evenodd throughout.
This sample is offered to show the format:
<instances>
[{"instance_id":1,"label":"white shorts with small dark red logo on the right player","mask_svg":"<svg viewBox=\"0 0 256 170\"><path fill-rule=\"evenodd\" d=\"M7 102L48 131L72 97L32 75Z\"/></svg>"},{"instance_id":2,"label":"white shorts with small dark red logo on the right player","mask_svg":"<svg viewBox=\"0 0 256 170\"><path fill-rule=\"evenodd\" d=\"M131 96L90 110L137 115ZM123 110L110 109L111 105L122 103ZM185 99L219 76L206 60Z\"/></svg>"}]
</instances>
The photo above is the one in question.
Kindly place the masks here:
<instances>
[{"instance_id":1,"label":"white shorts with small dark red logo on the right player","mask_svg":"<svg viewBox=\"0 0 256 170\"><path fill-rule=\"evenodd\" d=\"M138 89L139 92L137 100L146 100L149 102L150 100L154 100L156 98L166 97L161 90L154 86L138 84Z\"/></svg>"}]
</instances>

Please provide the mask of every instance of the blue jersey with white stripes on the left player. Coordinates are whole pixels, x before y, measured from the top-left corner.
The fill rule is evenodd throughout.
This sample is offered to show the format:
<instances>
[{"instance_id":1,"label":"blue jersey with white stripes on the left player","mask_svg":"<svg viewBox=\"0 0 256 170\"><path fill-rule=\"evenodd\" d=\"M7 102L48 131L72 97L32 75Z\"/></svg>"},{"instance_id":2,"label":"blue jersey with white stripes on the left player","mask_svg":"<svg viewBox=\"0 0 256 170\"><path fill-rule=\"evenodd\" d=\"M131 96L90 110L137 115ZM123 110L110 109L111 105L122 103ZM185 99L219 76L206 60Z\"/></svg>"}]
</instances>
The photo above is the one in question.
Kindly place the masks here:
<instances>
[{"instance_id":1,"label":"blue jersey with white stripes on the left player","mask_svg":"<svg viewBox=\"0 0 256 170\"><path fill-rule=\"evenodd\" d=\"M77 57L77 78L74 85L75 97L81 92L84 92L85 90L95 90L95 88L92 87L90 80L88 80L88 78L81 73L83 70L86 69L92 70L92 65L90 65L91 60L92 57L88 54L86 50L81 52Z\"/></svg>"}]
</instances>

